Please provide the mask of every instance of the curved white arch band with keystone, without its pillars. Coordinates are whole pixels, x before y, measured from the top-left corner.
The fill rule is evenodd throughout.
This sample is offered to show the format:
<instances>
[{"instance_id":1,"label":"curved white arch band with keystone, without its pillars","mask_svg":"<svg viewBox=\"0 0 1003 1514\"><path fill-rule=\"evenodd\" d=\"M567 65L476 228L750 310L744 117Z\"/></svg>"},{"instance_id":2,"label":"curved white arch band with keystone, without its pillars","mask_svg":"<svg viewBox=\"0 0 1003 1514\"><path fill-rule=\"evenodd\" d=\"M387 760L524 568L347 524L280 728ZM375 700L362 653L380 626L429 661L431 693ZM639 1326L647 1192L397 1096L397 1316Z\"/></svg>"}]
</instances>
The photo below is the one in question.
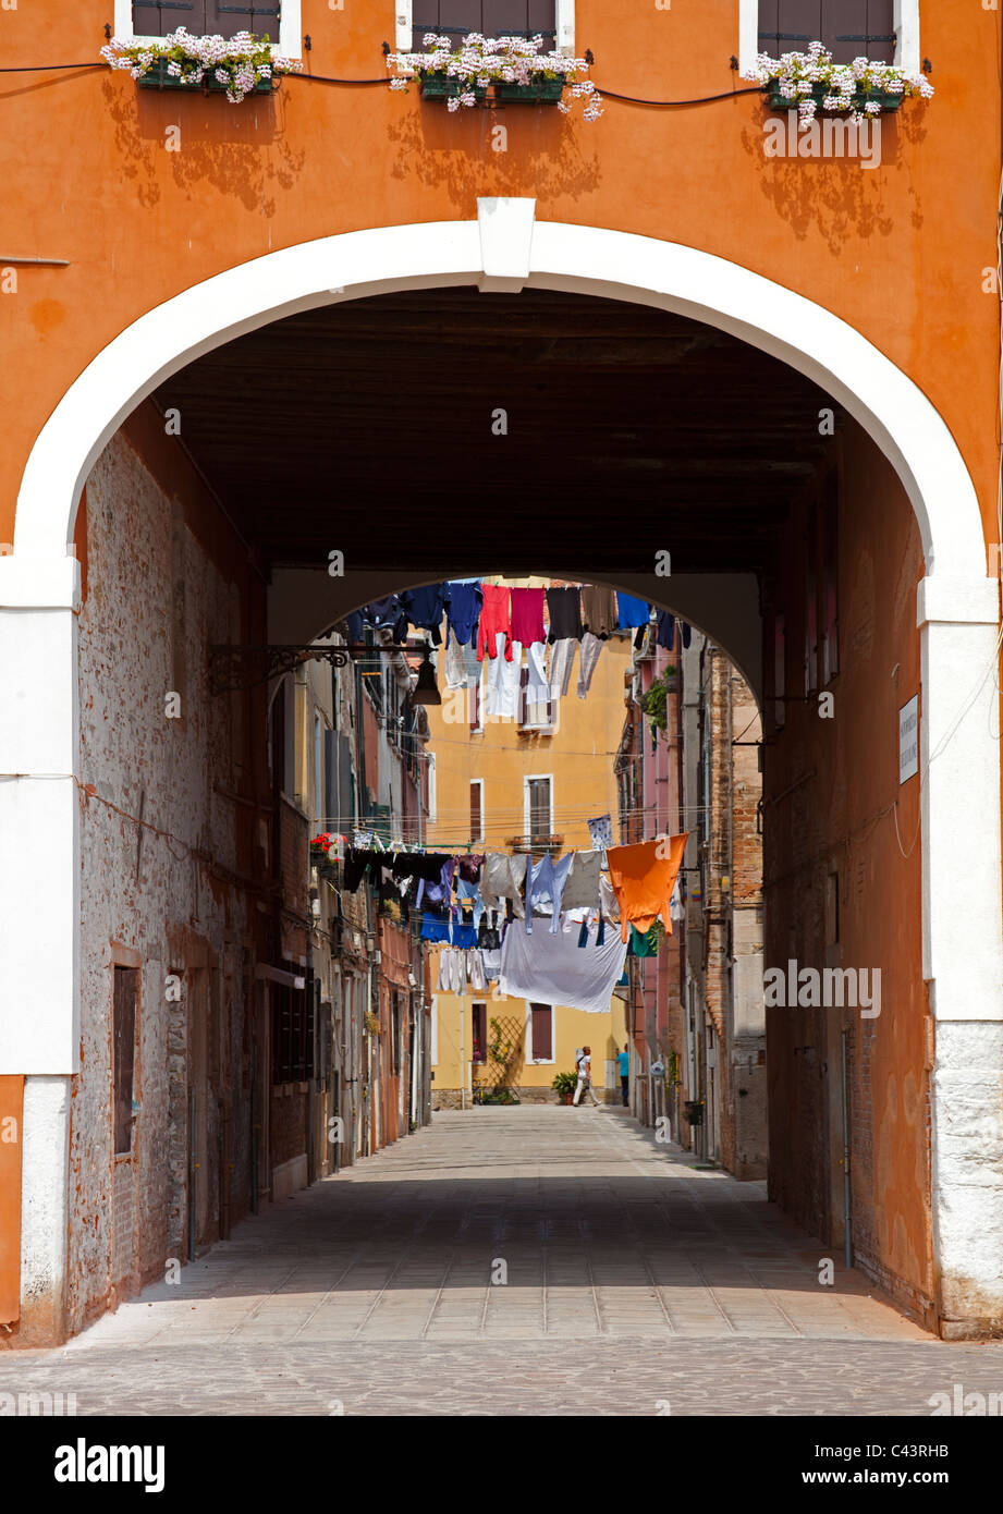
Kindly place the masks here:
<instances>
[{"instance_id":1,"label":"curved white arch band with keystone, without its pillars","mask_svg":"<svg viewBox=\"0 0 1003 1514\"><path fill-rule=\"evenodd\" d=\"M533 200L480 200L477 221L300 242L139 316L88 363L39 431L18 495L15 556L65 556L83 481L106 442L163 378L203 353L339 300L477 283L486 292L567 289L676 310L790 363L828 389L896 468L920 524L927 572L985 578L979 504L964 459L929 400L867 338L723 257L628 232L537 223L534 207Z\"/></svg>"}]
</instances>

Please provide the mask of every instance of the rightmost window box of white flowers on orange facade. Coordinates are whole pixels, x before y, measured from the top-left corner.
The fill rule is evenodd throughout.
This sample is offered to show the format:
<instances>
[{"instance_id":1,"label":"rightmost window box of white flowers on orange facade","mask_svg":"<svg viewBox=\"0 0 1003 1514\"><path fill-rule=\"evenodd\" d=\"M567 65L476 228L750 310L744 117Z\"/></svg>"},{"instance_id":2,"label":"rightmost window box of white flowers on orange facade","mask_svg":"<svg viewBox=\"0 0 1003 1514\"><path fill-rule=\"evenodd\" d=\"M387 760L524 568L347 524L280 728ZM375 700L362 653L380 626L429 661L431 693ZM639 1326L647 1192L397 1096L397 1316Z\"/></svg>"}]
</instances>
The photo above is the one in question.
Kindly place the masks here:
<instances>
[{"instance_id":1,"label":"rightmost window box of white flowers on orange facade","mask_svg":"<svg viewBox=\"0 0 1003 1514\"><path fill-rule=\"evenodd\" d=\"M821 42L811 42L806 53L759 53L743 79L758 80L772 111L797 111L802 121L847 114L856 123L882 112L897 111L903 100L920 95L929 100L933 85L926 74L911 74L894 64L871 64L855 58L834 64Z\"/></svg>"}]
</instances>

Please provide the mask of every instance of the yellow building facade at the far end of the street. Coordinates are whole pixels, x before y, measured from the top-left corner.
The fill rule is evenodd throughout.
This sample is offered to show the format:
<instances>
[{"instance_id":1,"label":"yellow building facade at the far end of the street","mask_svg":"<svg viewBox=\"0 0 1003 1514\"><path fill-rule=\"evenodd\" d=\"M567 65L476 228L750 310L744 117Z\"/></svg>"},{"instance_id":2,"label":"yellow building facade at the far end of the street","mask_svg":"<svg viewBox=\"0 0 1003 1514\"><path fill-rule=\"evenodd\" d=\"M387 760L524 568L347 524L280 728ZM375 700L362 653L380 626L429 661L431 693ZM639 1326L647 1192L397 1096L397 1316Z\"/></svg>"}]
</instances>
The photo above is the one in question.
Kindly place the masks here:
<instances>
[{"instance_id":1,"label":"yellow building facade at the far end of the street","mask_svg":"<svg viewBox=\"0 0 1003 1514\"><path fill-rule=\"evenodd\" d=\"M502 581L502 580L486 580ZM504 580L533 587L540 578ZM631 669L631 636L604 642L588 693L576 693L578 654L564 698L526 702L514 718L489 713L489 659L474 689L448 689L445 643L439 654L440 706L428 706L431 737L428 849L463 852L525 851L537 858L549 845L554 858L592 846L588 819L617 815L614 759L623 730L623 680ZM549 668L549 662L548 662ZM536 846L534 846L536 843ZM431 981L439 981L439 951L431 951ZM626 1040L626 1004L613 995L605 1014L567 1005L536 1004L499 993L433 998L433 1108L469 1107L504 1084L523 1104L557 1102L552 1081L575 1070L575 1051L592 1048L593 1090L619 1102L616 1054ZM585 1101L587 1102L587 1101Z\"/></svg>"}]
</instances>

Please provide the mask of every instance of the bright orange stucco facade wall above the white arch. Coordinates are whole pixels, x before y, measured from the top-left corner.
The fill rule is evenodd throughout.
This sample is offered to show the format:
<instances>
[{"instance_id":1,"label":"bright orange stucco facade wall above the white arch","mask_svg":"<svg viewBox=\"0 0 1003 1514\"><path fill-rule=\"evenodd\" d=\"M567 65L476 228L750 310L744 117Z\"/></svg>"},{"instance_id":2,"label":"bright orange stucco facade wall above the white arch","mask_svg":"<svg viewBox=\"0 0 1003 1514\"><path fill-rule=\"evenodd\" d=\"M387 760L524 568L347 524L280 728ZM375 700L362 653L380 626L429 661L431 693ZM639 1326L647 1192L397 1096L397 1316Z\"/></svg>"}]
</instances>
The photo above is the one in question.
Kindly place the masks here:
<instances>
[{"instance_id":1,"label":"bright orange stucco facade wall above the white arch","mask_svg":"<svg viewBox=\"0 0 1003 1514\"><path fill-rule=\"evenodd\" d=\"M77 62L104 41L106 5L3 14L5 65ZM390 0L343 12L303 0L307 70L381 77ZM579 0L576 47L599 88L691 98L741 88L737 0L670 11ZM0 254L65 257L18 268L0 294L0 542L11 540L24 459L85 363L144 310L227 266L360 227L475 215L475 197L537 198L542 220L640 232L744 263L864 332L926 391L995 512L995 263L1000 12L921 6L936 98L888 120L883 164L765 159L753 95L652 109L448 115L418 94L292 79L277 97L139 92L109 71L0 76ZM180 126L180 151L165 129ZM964 382L959 383L959 375Z\"/></svg>"}]
</instances>

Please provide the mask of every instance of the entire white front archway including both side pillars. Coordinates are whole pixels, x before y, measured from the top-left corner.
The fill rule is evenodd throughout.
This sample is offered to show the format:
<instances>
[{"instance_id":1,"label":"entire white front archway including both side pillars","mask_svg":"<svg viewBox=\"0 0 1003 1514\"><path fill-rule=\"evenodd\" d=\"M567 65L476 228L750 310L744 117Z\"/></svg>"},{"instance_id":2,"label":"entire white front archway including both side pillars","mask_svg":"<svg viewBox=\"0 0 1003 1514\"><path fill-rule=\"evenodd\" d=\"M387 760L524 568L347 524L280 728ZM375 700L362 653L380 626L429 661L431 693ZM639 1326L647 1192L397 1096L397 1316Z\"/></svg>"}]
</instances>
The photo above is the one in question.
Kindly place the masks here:
<instances>
[{"instance_id":1,"label":"entire white front archway including both side pillars","mask_svg":"<svg viewBox=\"0 0 1003 1514\"><path fill-rule=\"evenodd\" d=\"M57 1293L65 1266L65 1079L79 1067L80 922L79 566L68 544L86 475L126 415L165 377L213 347L339 300L477 285L489 294L546 288L602 295L726 330L832 394L903 483L927 572L917 624L923 977L938 1022L933 1185L942 1201L935 1204L935 1261L944 1279L944 1313L985 1314L986 1301L1000 1304L997 1258L1003 1252L997 1190L973 1164L973 1142L982 1151L986 1131L1003 1137L997 1108L1003 1070L1000 768L991 734L995 684L988 675L995 666L998 586L986 577L979 503L965 462L918 386L821 306L691 247L536 223L534 210L533 200L481 200L477 221L349 232L216 274L121 332L71 385L35 442L18 497L15 551L0 559L0 709L5 716L15 713L0 731L0 772L9 778L0 783L0 917L6 925L0 1073L29 1075L24 1140L26 1152L35 1154L32 1181L41 1193L26 1220L24 1287ZM965 839L965 889L958 887L958 837ZM67 868L53 868L51 857L61 852ZM45 910L38 905L42 898ZM976 1134L971 1142L949 1142L942 1132L962 1092ZM941 1229L942 1213L952 1216L950 1229Z\"/></svg>"}]
</instances>

